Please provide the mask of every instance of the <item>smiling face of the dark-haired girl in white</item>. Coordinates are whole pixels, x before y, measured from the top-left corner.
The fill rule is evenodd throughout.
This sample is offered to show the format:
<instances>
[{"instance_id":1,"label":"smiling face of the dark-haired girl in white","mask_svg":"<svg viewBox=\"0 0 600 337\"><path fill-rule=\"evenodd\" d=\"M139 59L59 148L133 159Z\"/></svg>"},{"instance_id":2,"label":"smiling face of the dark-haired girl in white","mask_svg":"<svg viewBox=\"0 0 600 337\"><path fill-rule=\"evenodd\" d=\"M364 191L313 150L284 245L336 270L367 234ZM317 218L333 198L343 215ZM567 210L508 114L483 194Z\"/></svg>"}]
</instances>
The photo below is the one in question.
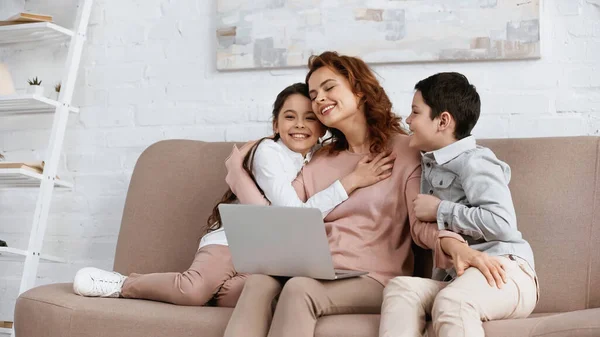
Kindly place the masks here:
<instances>
[{"instance_id":1,"label":"smiling face of the dark-haired girl in white","mask_svg":"<svg viewBox=\"0 0 600 337\"><path fill-rule=\"evenodd\" d=\"M325 127L319 122L310 107L310 100L300 94L289 96L277 120L273 122L273 131L279 133L283 143L292 151L306 155L325 135Z\"/></svg>"}]
</instances>

